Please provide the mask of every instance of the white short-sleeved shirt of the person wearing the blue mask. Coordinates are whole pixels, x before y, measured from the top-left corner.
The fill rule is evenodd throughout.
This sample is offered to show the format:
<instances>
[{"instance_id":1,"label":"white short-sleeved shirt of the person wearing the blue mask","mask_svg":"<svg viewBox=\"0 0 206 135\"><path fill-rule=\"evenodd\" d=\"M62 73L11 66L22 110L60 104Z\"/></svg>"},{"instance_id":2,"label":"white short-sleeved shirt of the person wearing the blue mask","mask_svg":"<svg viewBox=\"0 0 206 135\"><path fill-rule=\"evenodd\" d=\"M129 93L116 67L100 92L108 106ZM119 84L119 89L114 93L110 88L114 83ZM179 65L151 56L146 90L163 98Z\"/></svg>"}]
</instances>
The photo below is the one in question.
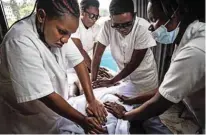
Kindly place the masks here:
<instances>
[{"instance_id":1,"label":"white short-sleeved shirt of the person wearing the blue mask","mask_svg":"<svg viewBox=\"0 0 206 135\"><path fill-rule=\"evenodd\" d=\"M175 49L169 70L159 88L167 100L178 103L205 88L205 23L194 21Z\"/></svg>"}]
</instances>

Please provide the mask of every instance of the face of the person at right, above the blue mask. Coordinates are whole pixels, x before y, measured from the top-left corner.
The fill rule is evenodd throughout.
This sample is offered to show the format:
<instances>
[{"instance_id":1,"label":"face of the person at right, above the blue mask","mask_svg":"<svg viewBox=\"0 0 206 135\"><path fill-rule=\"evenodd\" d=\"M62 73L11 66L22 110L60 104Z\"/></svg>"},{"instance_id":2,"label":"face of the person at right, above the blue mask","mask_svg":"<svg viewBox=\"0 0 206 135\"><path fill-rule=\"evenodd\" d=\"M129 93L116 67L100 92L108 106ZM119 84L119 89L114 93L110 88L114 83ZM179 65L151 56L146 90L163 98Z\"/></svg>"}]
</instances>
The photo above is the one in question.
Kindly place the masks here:
<instances>
[{"instance_id":1,"label":"face of the person at right, above the blue mask","mask_svg":"<svg viewBox=\"0 0 206 135\"><path fill-rule=\"evenodd\" d=\"M147 15L150 21L150 31L154 31L159 28L161 25L165 25L168 22L169 18L165 15L162 10L161 5L148 3L147 6ZM177 18L174 16L166 25L168 32L174 30L177 27Z\"/></svg>"}]
</instances>

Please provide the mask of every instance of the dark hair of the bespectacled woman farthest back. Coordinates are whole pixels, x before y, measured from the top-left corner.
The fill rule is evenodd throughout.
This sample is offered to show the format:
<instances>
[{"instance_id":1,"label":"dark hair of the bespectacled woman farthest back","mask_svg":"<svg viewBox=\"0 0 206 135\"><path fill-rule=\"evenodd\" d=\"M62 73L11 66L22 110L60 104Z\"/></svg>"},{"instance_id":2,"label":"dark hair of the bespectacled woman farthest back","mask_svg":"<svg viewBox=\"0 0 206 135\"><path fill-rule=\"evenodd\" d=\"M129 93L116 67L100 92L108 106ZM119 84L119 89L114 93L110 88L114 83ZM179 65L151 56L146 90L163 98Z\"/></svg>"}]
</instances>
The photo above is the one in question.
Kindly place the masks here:
<instances>
[{"instance_id":1,"label":"dark hair of the bespectacled woman farthest back","mask_svg":"<svg viewBox=\"0 0 206 135\"><path fill-rule=\"evenodd\" d=\"M82 0L80 2L80 8L82 11L85 11L90 6L99 8L99 1L98 0Z\"/></svg>"}]
</instances>

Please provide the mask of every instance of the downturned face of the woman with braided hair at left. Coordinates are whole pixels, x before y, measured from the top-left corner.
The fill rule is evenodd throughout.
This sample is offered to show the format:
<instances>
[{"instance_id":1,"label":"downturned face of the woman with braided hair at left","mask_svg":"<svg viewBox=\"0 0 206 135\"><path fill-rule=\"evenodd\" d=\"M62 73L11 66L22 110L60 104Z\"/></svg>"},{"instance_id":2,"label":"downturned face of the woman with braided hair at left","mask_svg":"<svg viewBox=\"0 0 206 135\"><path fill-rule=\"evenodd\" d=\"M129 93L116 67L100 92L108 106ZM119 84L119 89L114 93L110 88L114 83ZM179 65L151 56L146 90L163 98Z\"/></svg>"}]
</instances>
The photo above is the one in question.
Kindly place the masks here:
<instances>
[{"instance_id":1,"label":"downturned face of the woman with braided hair at left","mask_svg":"<svg viewBox=\"0 0 206 135\"><path fill-rule=\"evenodd\" d=\"M41 25L41 31L44 32L46 43L51 47L61 48L68 42L71 34L76 32L79 26L78 18L68 14L49 18L45 12L41 12L37 12L37 19Z\"/></svg>"}]
</instances>

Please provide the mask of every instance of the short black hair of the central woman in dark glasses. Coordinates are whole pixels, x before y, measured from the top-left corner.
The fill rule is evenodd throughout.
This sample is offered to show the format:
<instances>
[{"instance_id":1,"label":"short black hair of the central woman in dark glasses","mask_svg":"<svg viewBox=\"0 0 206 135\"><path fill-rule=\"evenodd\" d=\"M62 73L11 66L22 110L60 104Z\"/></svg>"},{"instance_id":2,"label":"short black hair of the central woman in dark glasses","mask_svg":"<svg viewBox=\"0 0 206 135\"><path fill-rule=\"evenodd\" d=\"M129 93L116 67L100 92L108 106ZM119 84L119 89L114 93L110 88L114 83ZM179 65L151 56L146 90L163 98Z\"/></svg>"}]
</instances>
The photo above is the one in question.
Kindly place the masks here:
<instances>
[{"instance_id":1,"label":"short black hair of the central woman in dark glasses","mask_svg":"<svg viewBox=\"0 0 206 135\"><path fill-rule=\"evenodd\" d=\"M112 0L109 5L110 15L118 15L126 12L134 13L134 3L132 0Z\"/></svg>"}]
</instances>

